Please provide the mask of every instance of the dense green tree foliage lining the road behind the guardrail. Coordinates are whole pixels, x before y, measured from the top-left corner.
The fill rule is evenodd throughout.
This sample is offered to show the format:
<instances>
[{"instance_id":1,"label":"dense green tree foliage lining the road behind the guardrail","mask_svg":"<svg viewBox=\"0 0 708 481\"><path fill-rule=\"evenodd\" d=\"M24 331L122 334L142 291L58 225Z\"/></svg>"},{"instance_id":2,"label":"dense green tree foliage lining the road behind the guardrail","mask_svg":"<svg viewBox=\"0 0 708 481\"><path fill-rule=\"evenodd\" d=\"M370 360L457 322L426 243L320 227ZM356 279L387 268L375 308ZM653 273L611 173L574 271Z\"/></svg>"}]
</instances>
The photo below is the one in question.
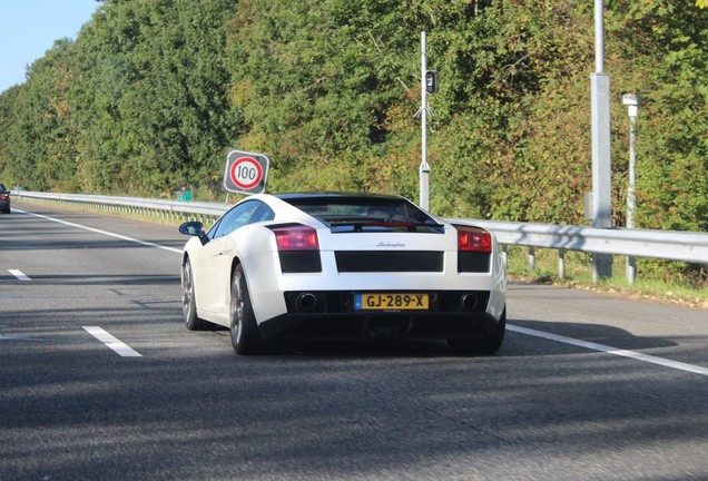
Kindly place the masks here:
<instances>
[{"instance_id":1,"label":"dense green tree foliage lining the road behind the guardrail","mask_svg":"<svg viewBox=\"0 0 708 481\"><path fill-rule=\"evenodd\" d=\"M226 149L272 156L269 189L417 197L420 32L431 209L582 224L591 188L591 2L106 0L0 95L0 175L32 189L219 198ZM606 8L614 224L640 90L640 227L708 230L708 16ZM700 8L699 8L700 7Z\"/></svg>"}]
</instances>

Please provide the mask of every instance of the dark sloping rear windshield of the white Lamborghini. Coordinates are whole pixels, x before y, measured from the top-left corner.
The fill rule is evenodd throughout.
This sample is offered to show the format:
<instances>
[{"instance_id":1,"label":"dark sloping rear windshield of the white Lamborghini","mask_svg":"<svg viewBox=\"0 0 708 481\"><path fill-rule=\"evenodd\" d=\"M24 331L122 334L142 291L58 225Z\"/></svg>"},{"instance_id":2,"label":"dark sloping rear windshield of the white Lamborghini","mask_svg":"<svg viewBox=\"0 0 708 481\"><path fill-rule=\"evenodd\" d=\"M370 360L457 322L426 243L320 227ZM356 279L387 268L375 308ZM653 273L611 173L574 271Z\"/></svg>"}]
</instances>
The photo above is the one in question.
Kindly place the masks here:
<instances>
[{"instance_id":1,"label":"dark sloping rear windshield of the white Lamborghini","mask_svg":"<svg viewBox=\"0 0 708 481\"><path fill-rule=\"evenodd\" d=\"M403 198L288 198L291 205L322 220L334 233L371 230L442 232L423 210Z\"/></svg>"}]
</instances>

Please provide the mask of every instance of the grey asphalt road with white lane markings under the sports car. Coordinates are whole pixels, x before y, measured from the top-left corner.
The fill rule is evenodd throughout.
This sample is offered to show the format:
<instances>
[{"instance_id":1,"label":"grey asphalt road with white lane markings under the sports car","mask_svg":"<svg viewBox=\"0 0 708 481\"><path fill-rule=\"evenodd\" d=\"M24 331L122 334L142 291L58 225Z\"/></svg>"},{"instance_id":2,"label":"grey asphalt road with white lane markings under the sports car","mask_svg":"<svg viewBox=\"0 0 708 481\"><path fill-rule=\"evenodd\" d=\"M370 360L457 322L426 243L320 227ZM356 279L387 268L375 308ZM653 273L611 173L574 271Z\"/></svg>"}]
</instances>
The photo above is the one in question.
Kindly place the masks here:
<instances>
[{"instance_id":1,"label":"grey asphalt road with white lane markings under the sports car","mask_svg":"<svg viewBox=\"0 0 708 481\"><path fill-rule=\"evenodd\" d=\"M0 480L708 479L706 310L513 284L493 356L243 357L181 324L185 240L0 215Z\"/></svg>"}]
</instances>

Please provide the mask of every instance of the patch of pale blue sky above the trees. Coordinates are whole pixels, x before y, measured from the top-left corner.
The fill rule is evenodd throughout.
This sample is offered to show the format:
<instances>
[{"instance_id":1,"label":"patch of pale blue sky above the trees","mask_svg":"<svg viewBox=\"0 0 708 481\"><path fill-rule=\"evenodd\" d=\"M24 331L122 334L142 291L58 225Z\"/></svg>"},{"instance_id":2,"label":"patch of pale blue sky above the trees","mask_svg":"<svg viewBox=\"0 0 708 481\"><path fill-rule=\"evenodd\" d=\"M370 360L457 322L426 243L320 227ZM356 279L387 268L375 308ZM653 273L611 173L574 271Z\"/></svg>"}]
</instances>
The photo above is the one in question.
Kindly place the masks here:
<instances>
[{"instance_id":1,"label":"patch of pale blue sky above the trees","mask_svg":"<svg viewBox=\"0 0 708 481\"><path fill-rule=\"evenodd\" d=\"M96 0L0 0L0 92L24 82L27 66L55 40L76 39Z\"/></svg>"}]
</instances>

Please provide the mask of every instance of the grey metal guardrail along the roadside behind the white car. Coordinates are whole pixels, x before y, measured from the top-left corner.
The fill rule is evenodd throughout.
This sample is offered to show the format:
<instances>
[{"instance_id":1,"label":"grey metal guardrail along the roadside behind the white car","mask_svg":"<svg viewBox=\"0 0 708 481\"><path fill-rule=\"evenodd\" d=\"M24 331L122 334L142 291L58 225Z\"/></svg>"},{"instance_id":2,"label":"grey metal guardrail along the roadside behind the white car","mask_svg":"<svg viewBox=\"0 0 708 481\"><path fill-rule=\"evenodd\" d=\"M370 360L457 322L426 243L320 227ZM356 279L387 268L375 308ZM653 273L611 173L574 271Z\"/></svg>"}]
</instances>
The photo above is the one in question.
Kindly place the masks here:
<instances>
[{"instance_id":1,"label":"grey metal guardrail along the roadside behind the white car","mask_svg":"<svg viewBox=\"0 0 708 481\"><path fill-rule=\"evenodd\" d=\"M155 215L171 219L198 219L208 224L232 207L230 204L157 200L137 197L97 196L80 194L48 194L13 192L20 198L72 204L102 210L124 210L138 215ZM572 225L549 225L446 218L455 224L475 225L494 233L503 246L527 246L533 268L534 248L559 252L559 275L564 275L566 251L592 254L649 257L666 261L708 264L708 233L593 228Z\"/></svg>"}]
</instances>

